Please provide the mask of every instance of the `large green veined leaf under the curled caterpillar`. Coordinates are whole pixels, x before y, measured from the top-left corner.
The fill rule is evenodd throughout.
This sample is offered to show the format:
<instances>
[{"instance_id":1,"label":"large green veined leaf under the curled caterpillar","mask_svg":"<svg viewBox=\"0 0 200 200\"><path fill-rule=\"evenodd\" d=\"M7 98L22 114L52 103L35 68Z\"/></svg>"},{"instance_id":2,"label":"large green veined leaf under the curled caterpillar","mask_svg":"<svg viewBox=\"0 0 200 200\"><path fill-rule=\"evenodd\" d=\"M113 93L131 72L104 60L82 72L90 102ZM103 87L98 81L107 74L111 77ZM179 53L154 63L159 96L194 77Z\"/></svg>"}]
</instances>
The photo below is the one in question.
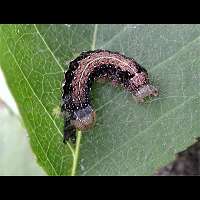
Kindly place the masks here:
<instances>
[{"instance_id":1,"label":"large green veined leaf under the curled caterpillar","mask_svg":"<svg viewBox=\"0 0 200 200\"><path fill-rule=\"evenodd\" d=\"M65 63L90 49L135 58L159 88L136 104L96 83L94 128L63 145L58 117ZM49 175L150 175L200 129L200 25L1 25L0 65L39 164Z\"/></svg>"}]
</instances>

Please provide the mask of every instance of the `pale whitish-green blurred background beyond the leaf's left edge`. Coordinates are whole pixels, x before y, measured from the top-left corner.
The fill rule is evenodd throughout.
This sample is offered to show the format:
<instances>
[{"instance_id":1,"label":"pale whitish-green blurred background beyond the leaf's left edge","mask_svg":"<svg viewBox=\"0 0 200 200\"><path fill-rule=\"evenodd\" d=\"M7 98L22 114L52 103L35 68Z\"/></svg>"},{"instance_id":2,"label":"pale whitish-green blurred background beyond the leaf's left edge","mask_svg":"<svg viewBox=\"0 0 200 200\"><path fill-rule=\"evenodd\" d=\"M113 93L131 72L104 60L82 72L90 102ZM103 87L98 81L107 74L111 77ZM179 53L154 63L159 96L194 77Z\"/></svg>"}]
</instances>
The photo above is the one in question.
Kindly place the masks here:
<instances>
[{"instance_id":1,"label":"pale whitish-green blurred background beyond the leaf's left edge","mask_svg":"<svg viewBox=\"0 0 200 200\"><path fill-rule=\"evenodd\" d=\"M0 175L45 175L32 153L17 105L0 67Z\"/></svg>"}]
</instances>

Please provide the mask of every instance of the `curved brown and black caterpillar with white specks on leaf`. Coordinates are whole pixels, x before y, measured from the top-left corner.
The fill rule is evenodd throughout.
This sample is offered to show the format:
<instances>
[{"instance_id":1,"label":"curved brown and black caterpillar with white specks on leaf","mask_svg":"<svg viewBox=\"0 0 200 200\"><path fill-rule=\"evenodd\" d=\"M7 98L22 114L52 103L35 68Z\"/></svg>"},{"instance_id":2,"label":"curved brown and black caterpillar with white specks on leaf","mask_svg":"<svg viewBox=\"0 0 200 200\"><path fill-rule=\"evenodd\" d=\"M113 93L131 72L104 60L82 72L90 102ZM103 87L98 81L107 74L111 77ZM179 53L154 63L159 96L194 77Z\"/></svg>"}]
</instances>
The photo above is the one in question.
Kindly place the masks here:
<instances>
[{"instance_id":1,"label":"curved brown and black caterpillar with white specks on leaf","mask_svg":"<svg viewBox=\"0 0 200 200\"><path fill-rule=\"evenodd\" d=\"M76 141L76 129L91 127L96 114L91 106L90 89L97 79L109 79L130 91L138 102L157 96L148 73L134 59L118 52L95 50L81 53L65 72L61 111L64 114L64 140Z\"/></svg>"}]
</instances>

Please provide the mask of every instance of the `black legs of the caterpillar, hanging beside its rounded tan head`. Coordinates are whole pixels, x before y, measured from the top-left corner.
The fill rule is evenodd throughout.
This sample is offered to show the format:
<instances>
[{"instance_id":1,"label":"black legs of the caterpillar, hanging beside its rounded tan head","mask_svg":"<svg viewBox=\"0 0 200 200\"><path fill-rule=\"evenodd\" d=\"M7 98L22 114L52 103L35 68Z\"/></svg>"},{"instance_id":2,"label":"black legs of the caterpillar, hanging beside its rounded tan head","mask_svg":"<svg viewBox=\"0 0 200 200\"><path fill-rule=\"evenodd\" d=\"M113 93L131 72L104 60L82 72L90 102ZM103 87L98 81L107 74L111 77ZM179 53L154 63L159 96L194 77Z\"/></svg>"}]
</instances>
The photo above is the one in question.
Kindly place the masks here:
<instances>
[{"instance_id":1,"label":"black legs of the caterpillar, hanging beside its rounded tan head","mask_svg":"<svg viewBox=\"0 0 200 200\"><path fill-rule=\"evenodd\" d=\"M69 118L65 118L63 143L66 144L66 141L69 141L69 139L72 143L76 143L76 128L71 125Z\"/></svg>"}]
</instances>

